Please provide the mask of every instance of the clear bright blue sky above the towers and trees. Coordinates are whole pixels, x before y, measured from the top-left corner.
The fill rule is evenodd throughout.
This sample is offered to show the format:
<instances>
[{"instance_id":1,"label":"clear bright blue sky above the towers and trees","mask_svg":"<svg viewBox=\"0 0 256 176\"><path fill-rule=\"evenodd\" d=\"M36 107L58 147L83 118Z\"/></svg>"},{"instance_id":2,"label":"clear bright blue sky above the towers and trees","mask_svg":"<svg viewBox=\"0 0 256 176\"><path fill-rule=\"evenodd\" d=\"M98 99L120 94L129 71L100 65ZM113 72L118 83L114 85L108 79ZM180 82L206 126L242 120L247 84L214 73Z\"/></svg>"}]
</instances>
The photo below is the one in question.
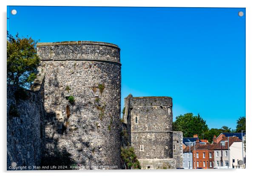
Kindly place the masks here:
<instances>
[{"instance_id":1,"label":"clear bright blue sky above the towers and trees","mask_svg":"<svg viewBox=\"0 0 256 176\"><path fill-rule=\"evenodd\" d=\"M209 128L235 129L245 116L245 15L239 11L245 14L245 8L9 6L7 27L41 42L117 44L122 106L129 93L171 96L174 120L200 113Z\"/></svg>"}]
</instances>

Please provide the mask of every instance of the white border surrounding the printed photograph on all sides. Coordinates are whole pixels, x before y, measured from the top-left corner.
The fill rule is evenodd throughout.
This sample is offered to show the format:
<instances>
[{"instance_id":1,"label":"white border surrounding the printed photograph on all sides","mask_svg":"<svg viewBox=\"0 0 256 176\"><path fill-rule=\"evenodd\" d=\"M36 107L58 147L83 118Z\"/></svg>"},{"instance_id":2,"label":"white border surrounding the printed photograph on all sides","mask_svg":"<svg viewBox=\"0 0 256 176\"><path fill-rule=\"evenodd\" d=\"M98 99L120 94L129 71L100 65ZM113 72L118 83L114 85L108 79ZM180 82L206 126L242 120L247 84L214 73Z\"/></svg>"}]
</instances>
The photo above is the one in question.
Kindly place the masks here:
<instances>
[{"instance_id":1,"label":"white border surrounding the printed photograph on all sides","mask_svg":"<svg viewBox=\"0 0 256 176\"><path fill-rule=\"evenodd\" d=\"M2 112L2 132L1 139L1 159L0 166L1 171L5 172L4 175L13 175L14 172L6 173L6 5L45 5L45 6L146 6L146 7L236 7L236 8L246 8L246 116L247 116L247 143L246 151L247 151L247 168L246 169L222 169L222 170L108 170L108 171L91 171L88 170L86 173L81 171L55 171L55 173L49 173L49 171L35 171L39 175L48 175L48 174L61 174L62 175L70 175L72 173L78 175L85 175L88 173L92 174L107 174L107 175L131 175L134 172L139 174L147 174L147 175L156 175L156 173L164 172L164 174L199 174L199 172L203 172L201 174L208 175L216 175L219 172L228 172L228 174L232 175L245 175L250 171L253 171L253 146L255 146L255 140L253 139L253 128L256 119L256 84L255 84L255 75L256 75L256 25L255 25L255 17L256 17L256 6L253 4L253 0L174 0L174 1L165 1L165 0L6 0L5 2L1 2L1 12L3 14L1 18L1 77L0 82L3 86L1 86L2 93L2 101L1 101L1 111ZM249 123L248 123L249 122ZM251 154L251 155L249 155ZM187 172L188 171L188 172ZM32 172L20 172L20 175L34 175L34 171ZM45 173L47 172L47 173ZM56 173L57 172L57 173ZM255 171L254 171L255 172Z\"/></svg>"}]
</instances>

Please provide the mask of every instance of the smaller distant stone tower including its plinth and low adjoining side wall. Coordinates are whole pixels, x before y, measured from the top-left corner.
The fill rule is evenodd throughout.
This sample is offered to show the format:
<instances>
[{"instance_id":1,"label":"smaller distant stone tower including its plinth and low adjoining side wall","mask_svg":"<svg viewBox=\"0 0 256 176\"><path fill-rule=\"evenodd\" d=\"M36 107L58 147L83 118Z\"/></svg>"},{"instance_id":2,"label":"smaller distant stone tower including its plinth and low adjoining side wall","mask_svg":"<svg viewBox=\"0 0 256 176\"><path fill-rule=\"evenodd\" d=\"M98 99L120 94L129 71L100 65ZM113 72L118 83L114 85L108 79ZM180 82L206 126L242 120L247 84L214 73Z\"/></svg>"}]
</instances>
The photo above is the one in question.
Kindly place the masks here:
<instances>
[{"instance_id":1,"label":"smaller distant stone tower including its plinth and low adjoining side wall","mask_svg":"<svg viewBox=\"0 0 256 176\"><path fill-rule=\"evenodd\" d=\"M172 98L125 98L124 123L144 169L182 168L182 132L173 132Z\"/></svg>"}]
</instances>

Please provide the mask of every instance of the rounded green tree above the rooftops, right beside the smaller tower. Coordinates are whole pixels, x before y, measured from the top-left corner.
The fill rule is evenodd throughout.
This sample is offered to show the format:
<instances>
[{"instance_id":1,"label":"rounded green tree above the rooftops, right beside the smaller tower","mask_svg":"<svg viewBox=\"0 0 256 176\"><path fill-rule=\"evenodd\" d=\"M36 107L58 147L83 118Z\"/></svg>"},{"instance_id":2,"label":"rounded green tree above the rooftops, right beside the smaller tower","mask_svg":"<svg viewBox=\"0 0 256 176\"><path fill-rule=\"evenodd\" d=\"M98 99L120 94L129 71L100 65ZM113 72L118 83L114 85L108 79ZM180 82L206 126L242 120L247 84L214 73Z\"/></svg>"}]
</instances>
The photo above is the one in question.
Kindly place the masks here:
<instances>
[{"instance_id":1,"label":"rounded green tree above the rooftops, right beside the smaller tower","mask_svg":"<svg viewBox=\"0 0 256 176\"><path fill-rule=\"evenodd\" d=\"M194 116L193 113L186 113L176 117L173 130L182 131L183 137L193 137L194 134L198 134L199 138L202 138L202 134L208 131L208 126L199 114Z\"/></svg>"}]
</instances>

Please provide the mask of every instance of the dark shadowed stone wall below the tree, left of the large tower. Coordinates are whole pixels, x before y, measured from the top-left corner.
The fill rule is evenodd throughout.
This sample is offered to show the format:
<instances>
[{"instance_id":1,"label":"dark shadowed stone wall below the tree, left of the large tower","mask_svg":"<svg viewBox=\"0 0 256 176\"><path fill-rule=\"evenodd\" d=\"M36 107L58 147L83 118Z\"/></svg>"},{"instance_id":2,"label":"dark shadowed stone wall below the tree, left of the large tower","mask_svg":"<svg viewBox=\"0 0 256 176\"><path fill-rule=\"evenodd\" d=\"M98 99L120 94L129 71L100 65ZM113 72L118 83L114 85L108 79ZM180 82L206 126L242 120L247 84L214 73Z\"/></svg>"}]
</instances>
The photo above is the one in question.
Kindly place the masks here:
<instances>
[{"instance_id":1,"label":"dark shadowed stone wall below the tree, left of the large tower","mask_svg":"<svg viewBox=\"0 0 256 176\"><path fill-rule=\"evenodd\" d=\"M43 87L43 77L33 91L7 85L7 170L16 170L10 168L15 165L26 166L23 170L40 166L44 151L41 139L45 137Z\"/></svg>"}]
</instances>

